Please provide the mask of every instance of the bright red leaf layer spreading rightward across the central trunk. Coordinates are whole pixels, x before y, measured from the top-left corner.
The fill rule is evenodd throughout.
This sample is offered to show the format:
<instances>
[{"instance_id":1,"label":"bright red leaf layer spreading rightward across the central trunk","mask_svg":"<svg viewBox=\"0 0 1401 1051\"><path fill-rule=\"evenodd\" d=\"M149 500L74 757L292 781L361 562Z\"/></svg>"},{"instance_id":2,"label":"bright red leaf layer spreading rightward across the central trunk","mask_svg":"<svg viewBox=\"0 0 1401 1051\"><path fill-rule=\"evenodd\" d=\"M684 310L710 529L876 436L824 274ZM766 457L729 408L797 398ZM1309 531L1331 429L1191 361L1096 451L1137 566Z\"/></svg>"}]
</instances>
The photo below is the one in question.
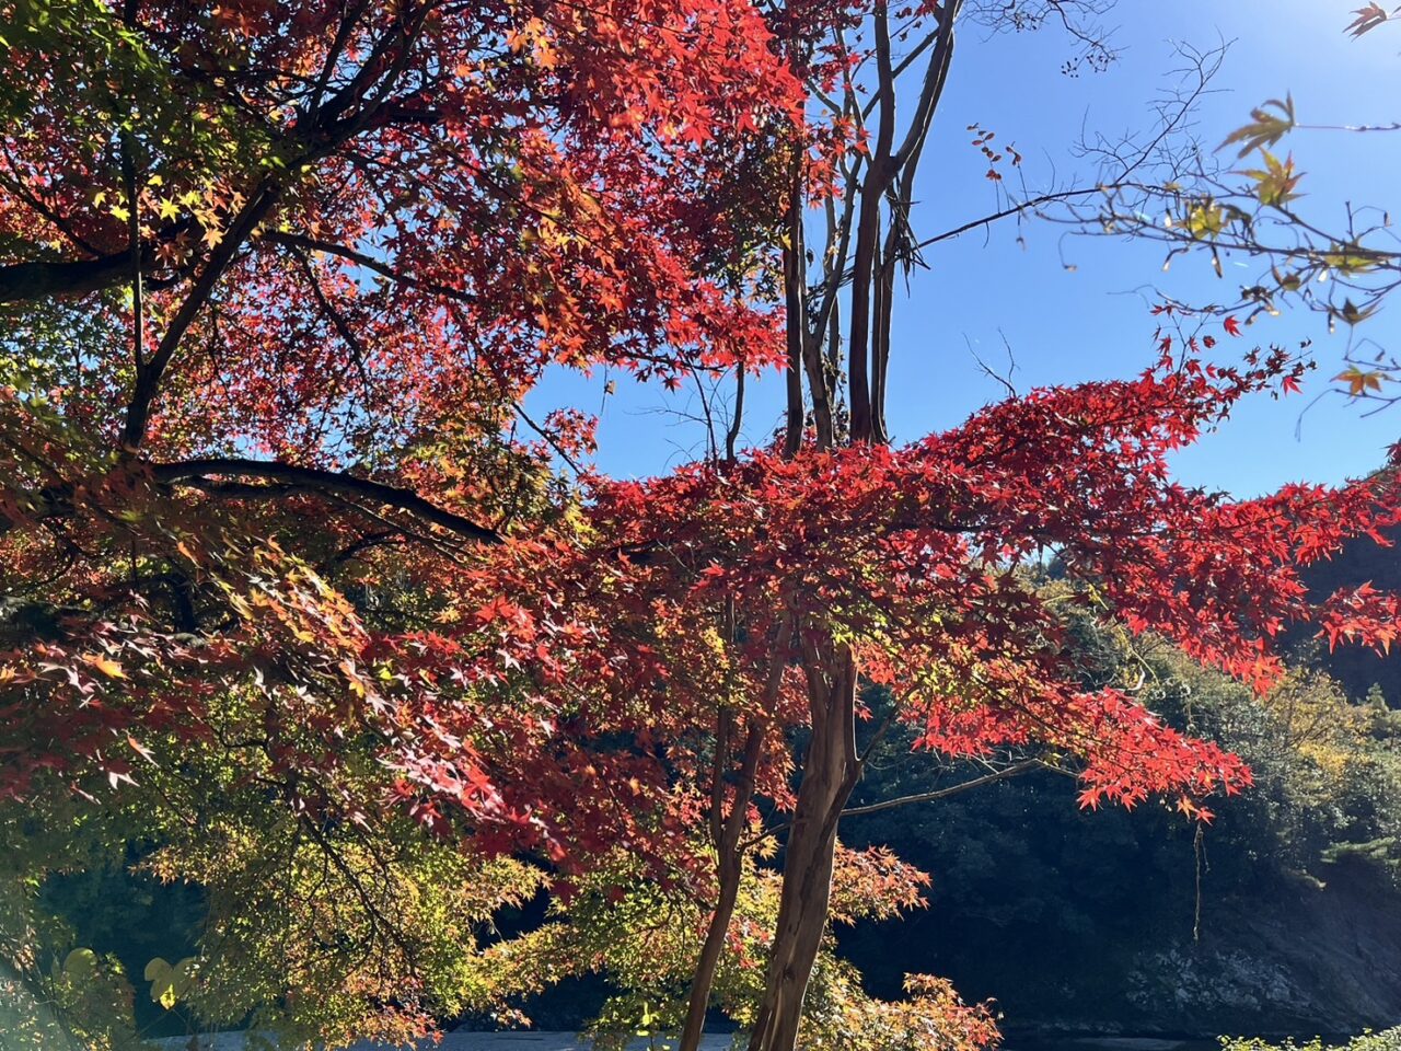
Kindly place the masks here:
<instances>
[{"instance_id":1,"label":"bright red leaf layer spreading rightward across the central trunk","mask_svg":"<svg viewBox=\"0 0 1401 1051\"><path fill-rule=\"evenodd\" d=\"M1387 645L1394 596L1311 596L1300 569L1397 521L1390 476L1245 502L1170 479L1167 455L1276 383L1282 360L1247 371L1164 362L1132 381L1037 391L902 450L754 453L600 481L577 537L510 544L474 573L479 619L497 638L471 674L510 680L511 653L525 710L558 720L556 747L581 750L548 760L570 785L558 813L537 811L542 832L576 841L576 817L597 817L591 800L621 786L632 786L633 835L649 802L650 834L685 827L699 807L672 820L674 786L713 785L703 741L727 709L769 734L759 790L786 803L785 731L807 715L800 656L824 638L856 647L925 747L1049 746L1082 761L1087 806L1248 783L1240 760L1132 696L1083 691L1063 615L1023 570L1054 556L1083 601L1259 688L1281 671L1271 639L1285 625ZM432 640L454 657L460 645ZM434 710L444 719L454 741L471 736ZM419 740L419 783L458 769L453 748ZM616 771L591 758L604 740ZM530 776L549 783L535 781L544 769Z\"/></svg>"}]
</instances>

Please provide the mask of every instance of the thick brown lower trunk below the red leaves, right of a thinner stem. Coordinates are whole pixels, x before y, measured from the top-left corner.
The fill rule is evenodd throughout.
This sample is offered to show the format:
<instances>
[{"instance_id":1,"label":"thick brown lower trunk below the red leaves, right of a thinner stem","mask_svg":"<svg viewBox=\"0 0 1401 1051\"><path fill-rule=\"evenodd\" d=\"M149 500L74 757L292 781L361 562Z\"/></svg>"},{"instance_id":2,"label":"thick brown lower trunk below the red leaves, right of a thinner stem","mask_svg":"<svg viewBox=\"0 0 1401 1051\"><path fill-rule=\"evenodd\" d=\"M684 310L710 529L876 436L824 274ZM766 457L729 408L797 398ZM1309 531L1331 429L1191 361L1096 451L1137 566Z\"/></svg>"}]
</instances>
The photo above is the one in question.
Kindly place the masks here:
<instances>
[{"instance_id":1,"label":"thick brown lower trunk below the red leaves, right of a thinner stem","mask_svg":"<svg viewBox=\"0 0 1401 1051\"><path fill-rule=\"evenodd\" d=\"M856 661L843 645L804 645L813 740L783 856L783 893L750 1051L793 1051L827 932L836 823L856 781Z\"/></svg>"}]
</instances>

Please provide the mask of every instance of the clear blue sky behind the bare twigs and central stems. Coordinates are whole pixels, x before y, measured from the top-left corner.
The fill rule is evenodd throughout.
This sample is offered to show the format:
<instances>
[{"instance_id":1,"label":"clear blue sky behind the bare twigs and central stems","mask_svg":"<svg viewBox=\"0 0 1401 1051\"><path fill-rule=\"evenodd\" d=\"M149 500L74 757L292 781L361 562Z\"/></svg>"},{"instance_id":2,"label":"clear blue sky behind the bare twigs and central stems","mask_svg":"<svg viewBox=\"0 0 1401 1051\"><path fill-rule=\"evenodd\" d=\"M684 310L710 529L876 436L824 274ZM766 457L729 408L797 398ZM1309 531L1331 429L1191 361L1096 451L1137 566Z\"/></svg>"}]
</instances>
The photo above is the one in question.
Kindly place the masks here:
<instances>
[{"instance_id":1,"label":"clear blue sky behind the bare twigs and central stems","mask_svg":"<svg viewBox=\"0 0 1401 1051\"><path fill-rule=\"evenodd\" d=\"M915 230L929 237L999 206L986 164L965 128L979 122L1026 157L1030 188L1065 182L1084 164L1073 156L1084 132L1146 129L1150 104L1181 64L1174 43L1230 49L1199 111L1198 132L1215 146L1248 119L1251 107L1293 94L1303 123L1380 123L1401 119L1401 31L1383 27L1359 41L1344 34L1356 0L1119 0L1104 17L1118 62L1103 73L1061 73L1072 43L1058 28L989 35L965 27L950 83L925 151L916 186ZM1401 133L1295 132L1292 150L1307 175L1300 209L1341 226L1344 202L1401 214ZM1337 220L1337 223L1334 223ZM1021 241L1019 242L1019 234ZM1073 263L1068 269L1065 263ZM1182 300L1231 300L1254 283L1257 263L1226 262L1222 280L1209 261L1180 258L1163 273L1163 251L1108 238L1065 238L1065 228L1013 220L926 251L909 294L897 303L888 420L897 441L958 423L1003 394L975 357L1003 369L1007 346L1020 390L1054 383L1131 376L1153 359L1154 320L1145 297L1159 287ZM1223 286L1224 282L1224 286ZM1401 303L1366 322L1365 334L1401 348ZM1178 455L1191 485L1252 496L1289 481L1337 482L1380 464L1401 437L1401 406L1370 418L1342 397L1325 397L1302 415L1339 369L1346 334L1330 336L1321 315L1302 310L1262 317L1222 350L1250 343L1286 346L1311 336L1320 360L1302 397L1265 397L1243 405L1219 432ZM1006 341L1006 345L1005 342ZM604 395L608 380L616 392ZM766 439L779 422L782 381L751 385L745 436ZM693 395L667 395L602 371L552 374L530 408L576 405L601 411L598 465L615 475L650 475L703 451L703 432L677 413Z\"/></svg>"}]
</instances>

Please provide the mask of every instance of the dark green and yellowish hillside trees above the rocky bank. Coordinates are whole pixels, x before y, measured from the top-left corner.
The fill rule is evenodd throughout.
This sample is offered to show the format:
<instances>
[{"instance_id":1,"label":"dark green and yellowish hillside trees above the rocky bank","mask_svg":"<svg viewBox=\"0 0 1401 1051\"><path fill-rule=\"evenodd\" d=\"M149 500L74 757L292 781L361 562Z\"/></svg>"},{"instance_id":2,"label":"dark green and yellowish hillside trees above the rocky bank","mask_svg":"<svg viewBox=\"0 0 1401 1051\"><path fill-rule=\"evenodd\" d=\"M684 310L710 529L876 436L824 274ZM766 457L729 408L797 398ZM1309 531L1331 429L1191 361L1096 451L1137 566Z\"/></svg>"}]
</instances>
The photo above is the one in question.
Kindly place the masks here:
<instances>
[{"instance_id":1,"label":"dark green and yellowish hillside trees above the rocky bank","mask_svg":"<svg viewBox=\"0 0 1401 1051\"><path fill-rule=\"evenodd\" d=\"M887 844L933 876L927 912L842 937L877 994L904 971L929 970L950 975L969 998L999 998L1013 1031L1047 1022L1152 1024L1142 1020L1152 1012L1133 1005L1143 989L1129 973L1161 980L1159 998L1185 985L1174 988L1170 973L1154 975L1161 964L1145 959L1157 950L1167 960L1173 952L1205 959L1236 950L1269 960L1279 944L1267 944L1267 935L1307 940L1316 932L1303 914L1335 908L1330 902L1341 894L1369 909L1377 901L1401 908L1401 713L1380 703L1379 691L1370 701L1349 698L1325 674L1296 671L1259 698L1166 645L1090 618L1075 645L1086 685L1139 684L1174 726L1238 751L1254 789L1215 800L1216 817L1202 827L1163 803L1080 811L1073 782L1052 772L848 818L842 835L853 846ZM905 741L891 739L853 803L981 772L950 764L930 778L906 757ZM1325 977L1300 978L1310 981L1321 988ZM1163 1017L1177 1017L1171 1003L1163 1008ZM1278 1016L1272 1031L1307 1024L1309 1012L1302 1005L1295 1019ZM1192 1010L1178 1015L1177 1024L1192 1024ZM1208 1031L1205 1009L1195 1016L1196 1031ZM1213 1017L1230 1019L1230 1009ZM1352 1027L1366 1020L1352 1017Z\"/></svg>"}]
</instances>

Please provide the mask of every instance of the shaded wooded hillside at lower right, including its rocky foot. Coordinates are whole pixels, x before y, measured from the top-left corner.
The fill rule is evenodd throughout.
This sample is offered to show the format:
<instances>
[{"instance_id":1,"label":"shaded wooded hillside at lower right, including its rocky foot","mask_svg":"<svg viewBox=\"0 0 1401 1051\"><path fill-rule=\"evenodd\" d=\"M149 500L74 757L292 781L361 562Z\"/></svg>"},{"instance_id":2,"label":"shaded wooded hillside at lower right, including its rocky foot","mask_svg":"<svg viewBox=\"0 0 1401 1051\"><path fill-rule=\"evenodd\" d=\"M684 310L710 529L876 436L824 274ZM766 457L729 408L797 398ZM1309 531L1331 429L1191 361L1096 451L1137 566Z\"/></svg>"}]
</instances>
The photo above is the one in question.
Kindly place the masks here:
<instances>
[{"instance_id":1,"label":"shaded wooded hillside at lower right, including its rocky foot","mask_svg":"<svg viewBox=\"0 0 1401 1051\"><path fill-rule=\"evenodd\" d=\"M1321 593L1369 580L1401 590L1401 547L1360 541L1309 573ZM1090 668L1110 653L1093 632L1082 645ZM929 971L996 996L1019 1040L1401 1022L1401 647L1330 654L1300 633L1293 649L1335 684L1303 680L1276 705L1168 650L1150 659L1145 701L1255 774L1209 827L1163 803L1086 813L1049 774L843 823L850 845L887 844L933 876L927 911L841 930L843 952L880 994ZM1358 703L1374 684L1390 715ZM878 758L857 802L934 783Z\"/></svg>"}]
</instances>

